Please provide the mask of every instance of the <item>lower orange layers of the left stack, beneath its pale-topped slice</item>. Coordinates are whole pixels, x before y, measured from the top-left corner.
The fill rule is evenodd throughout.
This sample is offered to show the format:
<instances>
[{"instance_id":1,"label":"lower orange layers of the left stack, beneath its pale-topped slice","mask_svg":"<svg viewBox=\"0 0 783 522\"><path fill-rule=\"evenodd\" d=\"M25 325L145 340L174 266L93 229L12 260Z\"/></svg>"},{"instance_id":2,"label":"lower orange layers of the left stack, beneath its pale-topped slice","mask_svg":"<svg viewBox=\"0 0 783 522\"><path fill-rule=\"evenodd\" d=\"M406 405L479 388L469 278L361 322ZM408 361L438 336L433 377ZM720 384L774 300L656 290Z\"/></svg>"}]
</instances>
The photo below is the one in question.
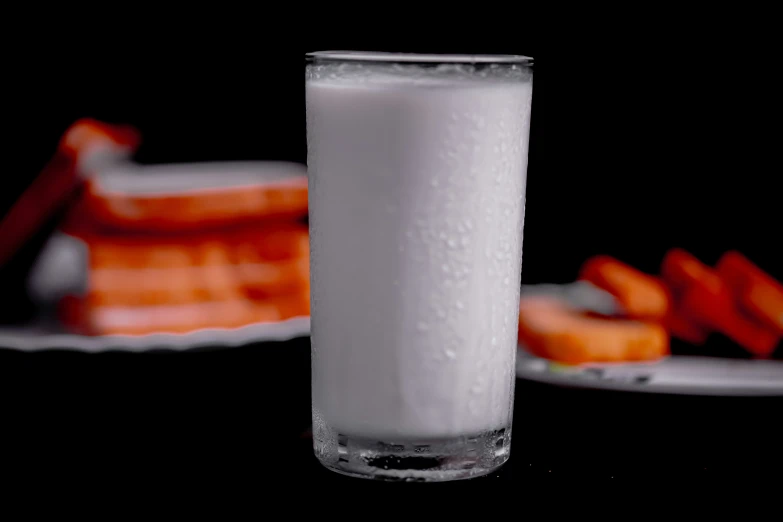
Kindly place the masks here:
<instances>
[{"instance_id":1,"label":"lower orange layers of the left stack, beneath its pale-topped slice","mask_svg":"<svg viewBox=\"0 0 783 522\"><path fill-rule=\"evenodd\" d=\"M87 292L61 306L63 321L81 332L187 332L309 315L303 225L83 239Z\"/></svg>"}]
</instances>

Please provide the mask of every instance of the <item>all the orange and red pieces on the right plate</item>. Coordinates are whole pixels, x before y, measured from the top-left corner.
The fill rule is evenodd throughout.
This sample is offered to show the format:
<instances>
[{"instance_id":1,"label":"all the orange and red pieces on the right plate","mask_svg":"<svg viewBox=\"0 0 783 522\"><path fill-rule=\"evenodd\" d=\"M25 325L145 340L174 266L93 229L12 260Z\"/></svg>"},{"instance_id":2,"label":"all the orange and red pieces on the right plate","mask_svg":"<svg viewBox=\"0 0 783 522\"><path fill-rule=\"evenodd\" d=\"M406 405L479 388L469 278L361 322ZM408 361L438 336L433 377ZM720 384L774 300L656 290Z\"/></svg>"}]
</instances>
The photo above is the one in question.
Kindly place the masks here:
<instances>
[{"instance_id":1,"label":"all the orange and red pieces on the right plate","mask_svg":"<svg viewBox=\"0 0 783 522\"><path fill-rule=\"evenodd\" d=\"M561 300L523 297L519 339L535 355L565 364L649 361L669 353L669 336L701 345L716 332L769 357L783 336L783 285L738 252L710 268L673 249L660 277L596 256L579 278L612 294L622 312L598 316Z\"/></svg>"}]
</instances>

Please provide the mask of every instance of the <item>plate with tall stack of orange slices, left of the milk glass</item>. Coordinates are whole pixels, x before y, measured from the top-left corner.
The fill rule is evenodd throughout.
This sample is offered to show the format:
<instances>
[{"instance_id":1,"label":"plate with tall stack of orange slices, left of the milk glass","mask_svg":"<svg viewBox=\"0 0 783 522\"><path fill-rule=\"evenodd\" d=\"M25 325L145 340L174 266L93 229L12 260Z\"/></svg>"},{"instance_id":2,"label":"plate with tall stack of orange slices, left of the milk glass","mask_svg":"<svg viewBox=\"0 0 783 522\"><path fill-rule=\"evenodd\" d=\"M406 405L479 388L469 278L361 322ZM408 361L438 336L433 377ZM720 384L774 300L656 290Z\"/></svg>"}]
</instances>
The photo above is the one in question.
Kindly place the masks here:
<instances>
[{"instance_id":1,"label":"plate with tall stack of orange slices, left of the milk glass","mask_svg":"<svg viewBox=\"0 0 783 522\"><path fill-rule=\"evenodd\" d=\"M289 162L141 165L132 129L74 124L0 222L0 265L50 215L20 350L188 349L309 332L307 173Z\"/></svg>"}]
</instances>

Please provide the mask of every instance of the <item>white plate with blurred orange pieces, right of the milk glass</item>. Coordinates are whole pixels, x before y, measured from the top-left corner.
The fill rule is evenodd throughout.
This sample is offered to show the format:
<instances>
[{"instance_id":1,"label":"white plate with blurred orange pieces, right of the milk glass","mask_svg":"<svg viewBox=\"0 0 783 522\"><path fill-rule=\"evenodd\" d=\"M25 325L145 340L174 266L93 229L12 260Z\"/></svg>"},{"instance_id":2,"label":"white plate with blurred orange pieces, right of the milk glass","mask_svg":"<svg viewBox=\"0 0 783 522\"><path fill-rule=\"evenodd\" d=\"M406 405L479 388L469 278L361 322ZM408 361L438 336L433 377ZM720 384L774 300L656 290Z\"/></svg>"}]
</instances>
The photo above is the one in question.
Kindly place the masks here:
<instances>
[{"instance_id":1,"label":"white plate with blurred orange pieces, right of the milk glass","mask_svg":"<svg viewBox=\"0 0 783 522\"><path fill-rule=\"evenodd\" d=\"M523 287L517 375L555 385L783 395L783 286L739 252L682 249L659 275L588 259L570 285Z\"/></svg>"}]
</instances>

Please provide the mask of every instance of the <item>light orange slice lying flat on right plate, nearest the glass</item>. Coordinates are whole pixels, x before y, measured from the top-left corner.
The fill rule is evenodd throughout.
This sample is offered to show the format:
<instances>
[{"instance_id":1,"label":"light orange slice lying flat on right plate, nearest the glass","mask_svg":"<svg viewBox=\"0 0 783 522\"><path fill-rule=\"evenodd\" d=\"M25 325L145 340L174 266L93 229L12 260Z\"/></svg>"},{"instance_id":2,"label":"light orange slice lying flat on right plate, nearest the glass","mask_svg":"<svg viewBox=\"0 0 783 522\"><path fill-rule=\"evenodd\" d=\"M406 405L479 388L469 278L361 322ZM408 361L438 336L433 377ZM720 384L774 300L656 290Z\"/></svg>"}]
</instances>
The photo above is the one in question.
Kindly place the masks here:
<instances>
[{"instance_id":1,"label":"light orange slice lying flat on right plate, nearest the glass","mask_svg":"<svg viewBox=\"0 0 783 522\"><path fill-rule=\"evenodd\" d=\"M519 339L533 354L565 364L652 361L669 353L660 325L588 317L551 297L521 300Z\"/></svg>"}]
</instances>

